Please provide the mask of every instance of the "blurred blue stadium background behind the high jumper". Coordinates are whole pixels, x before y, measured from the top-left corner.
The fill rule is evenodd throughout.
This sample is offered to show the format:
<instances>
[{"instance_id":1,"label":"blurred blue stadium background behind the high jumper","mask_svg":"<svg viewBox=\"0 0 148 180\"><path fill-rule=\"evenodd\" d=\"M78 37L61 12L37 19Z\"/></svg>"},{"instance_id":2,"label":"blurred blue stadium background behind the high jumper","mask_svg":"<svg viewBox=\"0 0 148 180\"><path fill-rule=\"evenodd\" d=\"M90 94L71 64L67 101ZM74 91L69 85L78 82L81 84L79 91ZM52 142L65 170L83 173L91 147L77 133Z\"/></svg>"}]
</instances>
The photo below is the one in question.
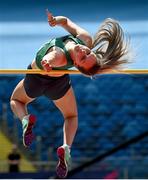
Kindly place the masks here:
<instances>
[{"instance_id":1,"label":"blurred blue stadium background behind the high jumper","mask_svg":"<svg viewBox=\"0 0 148 180\"><path fill-rule=\"evenodd\" d=\"M65 15L94 34L106 17L118 19L131 37L136 55L130 69L147 69L147 0L7 0L0 1L0 69L25 69L36 50L49 38L66 34L50 28L45 9ZM63 119L53 103L40 97L29 105L37 116L36 141L22 146L22 127L10 110L9 99L23 75L0 75L0 178L52 178L56 149L62 144ZM69 178L148 178L148 75L100 75L91 80L71 75L77 97L79 128L72 147ZM145 133L126 148L87 162ZM21 173L9 174L7 155L16 143L21 153ZM99 159L99 158L98 158Z\"/></svg>"}]
</instances>

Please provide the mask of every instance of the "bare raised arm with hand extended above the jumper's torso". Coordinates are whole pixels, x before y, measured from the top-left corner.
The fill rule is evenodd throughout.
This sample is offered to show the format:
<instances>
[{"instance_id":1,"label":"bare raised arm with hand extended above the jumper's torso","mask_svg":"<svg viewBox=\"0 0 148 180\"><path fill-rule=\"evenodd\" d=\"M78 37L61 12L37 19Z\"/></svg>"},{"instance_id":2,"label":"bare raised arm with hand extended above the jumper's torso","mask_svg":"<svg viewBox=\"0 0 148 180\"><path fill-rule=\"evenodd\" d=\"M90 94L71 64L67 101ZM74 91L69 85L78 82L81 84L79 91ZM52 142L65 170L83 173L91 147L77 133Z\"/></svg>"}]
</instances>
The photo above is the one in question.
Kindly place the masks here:
<instances>
[{"instance_id":1,"label":"bare raised arm with hand extended above the jumper's torso","mask_svg":"<svg viewBox=\"0 0 148 180\"><path fill-rule=\"evenodd\" d=\"M50 26L59 25L65 30L67 30L69 33L71 33L73 36L81 39L86 46L88 46L89 48L92 47L91 35L86 30L72 22L69 18L65 16L53 16L48 10L47 18Z\"/></svg>"}]
</instances>

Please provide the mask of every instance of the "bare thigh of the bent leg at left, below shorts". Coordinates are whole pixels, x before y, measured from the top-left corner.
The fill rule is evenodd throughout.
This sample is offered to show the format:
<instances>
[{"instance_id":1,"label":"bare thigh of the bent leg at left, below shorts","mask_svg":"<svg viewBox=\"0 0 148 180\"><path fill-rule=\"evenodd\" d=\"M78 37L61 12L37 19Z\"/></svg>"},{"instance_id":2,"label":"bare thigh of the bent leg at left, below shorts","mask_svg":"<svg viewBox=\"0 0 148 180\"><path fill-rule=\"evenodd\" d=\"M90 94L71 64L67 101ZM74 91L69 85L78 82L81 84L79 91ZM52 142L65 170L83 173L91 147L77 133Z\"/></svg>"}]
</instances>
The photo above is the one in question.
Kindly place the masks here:
<instances>
[{"instance_id":1,"label":"bare thigh of the bent leg at left, below shorts","mask_svg":"<svg viewBox=\"0 0 148 180\"><path fill-rule=\"evenodd\" d=\"M25 92L24 79L21 80L15 87L15 89L11 95L11 100L18 100L23 103L29 103L34 100L33 98L30 98L29 96L27 96L27 94Z\"/></svg>"}]
</instances>

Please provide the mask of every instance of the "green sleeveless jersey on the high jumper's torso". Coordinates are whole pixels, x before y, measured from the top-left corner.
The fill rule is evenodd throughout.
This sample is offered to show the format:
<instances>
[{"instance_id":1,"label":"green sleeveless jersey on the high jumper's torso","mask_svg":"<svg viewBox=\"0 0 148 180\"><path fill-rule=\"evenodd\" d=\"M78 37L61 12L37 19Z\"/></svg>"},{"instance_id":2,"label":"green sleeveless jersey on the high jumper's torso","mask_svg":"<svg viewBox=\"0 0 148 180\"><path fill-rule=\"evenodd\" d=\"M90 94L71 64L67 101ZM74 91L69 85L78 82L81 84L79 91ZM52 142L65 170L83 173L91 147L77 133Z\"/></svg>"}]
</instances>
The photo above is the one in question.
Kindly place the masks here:
<instances>
[{"instance_id":1,"label":"green sleeveless jersey on the high jumper's torso","mask_svg":"<svg viewBox=\"0 0 148 180\"><path fill-rule=\"evenodd\" d=\"M83 41L81 41L80 39L78 39L72 35L67 35L67 36L51 39L49 42L45 43L36 54L35 61L36 61L36 64L39 69L43 69L41 61L42 61L43 57L46 55L47 51L53 46L60 47L61 49L64 50L64 53L65 53L65 56L67 59L67 64L65 66L54 67L52 69L53 70L66 70L66 69L73 67L73 61L70 57L69 52L67 51L67 49L65 48L65 45L64 45L64 41L67 39L72 39L76 44L84 45Z\"/></svg>"}]
</instances>

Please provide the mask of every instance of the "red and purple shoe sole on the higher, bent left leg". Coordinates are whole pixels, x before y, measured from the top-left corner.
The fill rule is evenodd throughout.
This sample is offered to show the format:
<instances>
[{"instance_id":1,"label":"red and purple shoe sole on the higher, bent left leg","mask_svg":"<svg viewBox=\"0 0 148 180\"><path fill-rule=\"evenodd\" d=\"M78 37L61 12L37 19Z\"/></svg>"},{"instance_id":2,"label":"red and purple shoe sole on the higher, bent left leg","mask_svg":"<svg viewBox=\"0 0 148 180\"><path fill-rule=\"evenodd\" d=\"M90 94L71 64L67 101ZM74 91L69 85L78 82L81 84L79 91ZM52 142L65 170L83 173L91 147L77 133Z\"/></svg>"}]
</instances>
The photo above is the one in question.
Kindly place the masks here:
<instances>
[{"instance_id":1,"label":"red and purple shoe sole on the higher, bent left leg","mask_svg":"<svg viewBox=\"0 0 148 180\"><path fill-rule=\"evenodd\" d=\"M23 144L25 147L29 147L34 139L32 128L33 128L35 122L36 122L36 117L34 115L30 115L28 126L23 135Z\"/></svg>"}]
</instances>

